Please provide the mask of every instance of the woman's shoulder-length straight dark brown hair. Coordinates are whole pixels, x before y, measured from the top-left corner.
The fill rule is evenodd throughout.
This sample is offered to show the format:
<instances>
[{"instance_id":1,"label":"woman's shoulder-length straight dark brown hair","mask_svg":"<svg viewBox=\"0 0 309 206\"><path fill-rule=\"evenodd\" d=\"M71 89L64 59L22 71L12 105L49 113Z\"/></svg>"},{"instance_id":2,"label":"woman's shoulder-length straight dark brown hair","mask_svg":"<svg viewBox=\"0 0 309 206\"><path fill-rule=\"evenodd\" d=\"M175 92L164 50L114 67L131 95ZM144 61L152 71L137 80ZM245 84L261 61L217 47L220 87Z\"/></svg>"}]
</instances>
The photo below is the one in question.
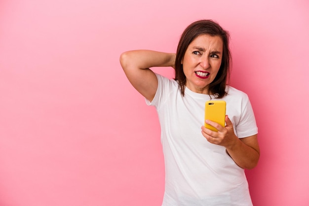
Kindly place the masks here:
<instances>
[{"instance_id":1,"label":"woman's shoulder-length straight dark brown hair","mask_svg":"<svg viewBox=\"0 0 309 206\"><path fill-rule=\"evenodd\" d=\"M227 93L225 91L227 81L230 78L230 63L232 63L231 53L229 49L230 34L228 31L212 20L199 20L189 25L178 43L176 60L175 60L175 80L178 80L179 88L182 96L185 95L186 76L181 64L185 56L185 52L189 44L199 35L208 34L211 36L220 36L223 41L223 54L220 69L215 79L209 84L209 94L213 94L216 98L222 98Z\"/></svg>"}]
</instances>

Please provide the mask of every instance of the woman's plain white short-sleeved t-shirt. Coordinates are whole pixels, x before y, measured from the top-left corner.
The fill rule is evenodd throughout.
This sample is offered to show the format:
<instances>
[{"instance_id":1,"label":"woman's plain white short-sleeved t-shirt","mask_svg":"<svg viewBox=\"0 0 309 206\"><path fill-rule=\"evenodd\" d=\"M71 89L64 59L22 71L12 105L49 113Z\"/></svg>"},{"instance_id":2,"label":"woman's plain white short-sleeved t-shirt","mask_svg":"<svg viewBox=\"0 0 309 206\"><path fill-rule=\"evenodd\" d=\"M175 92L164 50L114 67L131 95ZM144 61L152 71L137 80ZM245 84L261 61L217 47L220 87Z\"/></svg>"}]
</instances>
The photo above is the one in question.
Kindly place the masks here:
<instances>
[{"instance_id":1,"label":"woman's plain white short-sleeved t-shirt","mask_svg":"<svg viewBox=\"0 0 309 206\"><path fill-rule=\"evenodd\" d=\"M205 102L209 95L185 89L159 74L154 100L165 161L162 206L252 206L244 170L225 147L209 143L201 134ZM256 135L254 113L248 96L227 86L226 113L238 138ZM214 99L214 97L212 97ZM216 99L218 100L218 99Z\"/></svg>"}]
</instances>

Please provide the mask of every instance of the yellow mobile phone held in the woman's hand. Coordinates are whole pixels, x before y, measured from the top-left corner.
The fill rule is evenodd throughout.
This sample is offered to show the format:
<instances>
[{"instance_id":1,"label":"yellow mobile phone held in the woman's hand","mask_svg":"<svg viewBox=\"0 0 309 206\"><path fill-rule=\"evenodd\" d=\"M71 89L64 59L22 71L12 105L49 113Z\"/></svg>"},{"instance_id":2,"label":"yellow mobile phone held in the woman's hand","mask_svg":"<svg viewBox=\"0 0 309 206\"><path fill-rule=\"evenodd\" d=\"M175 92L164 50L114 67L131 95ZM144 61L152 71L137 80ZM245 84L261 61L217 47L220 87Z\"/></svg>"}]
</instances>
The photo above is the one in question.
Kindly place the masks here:
<instances>
[{"instance_id":1,"label":"yellow mobile phone held in the woman's hand","mask_svg":"<svg viewBox=\"0 0 309 206\"><path fill-rule=\"evenodd\" d=\"M217 122L225 127L225 114L227 103L222 100L212 100L205 103L205 120L209 119L213 122ZM205 123L205 127L218 132L216 128Z\"/></svg>"}]
</instances>

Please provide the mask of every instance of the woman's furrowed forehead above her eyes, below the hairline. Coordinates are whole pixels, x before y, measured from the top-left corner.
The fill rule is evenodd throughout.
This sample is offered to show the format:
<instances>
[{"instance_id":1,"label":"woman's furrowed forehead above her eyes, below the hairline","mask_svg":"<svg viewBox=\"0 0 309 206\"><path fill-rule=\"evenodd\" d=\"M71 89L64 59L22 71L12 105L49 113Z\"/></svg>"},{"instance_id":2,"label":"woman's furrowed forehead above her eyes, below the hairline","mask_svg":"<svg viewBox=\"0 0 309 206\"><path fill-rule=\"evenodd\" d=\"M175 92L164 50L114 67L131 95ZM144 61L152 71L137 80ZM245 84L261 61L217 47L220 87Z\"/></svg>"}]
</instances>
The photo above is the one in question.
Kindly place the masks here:
<instances>
[{"instance_id":1,"label":"woman's furrowed forehead above her eyes, below the hairline","mask_svg":"<svg viewBox=\"0 0 309 206\"><path fill-rule=\"evenodd\" d=\"M220 36L211 36L208 34L198 35L189 44L188 49L193 49L194 47L203 48L205 50L223 50L223 41Z\"/></svg>"}]
</instances>

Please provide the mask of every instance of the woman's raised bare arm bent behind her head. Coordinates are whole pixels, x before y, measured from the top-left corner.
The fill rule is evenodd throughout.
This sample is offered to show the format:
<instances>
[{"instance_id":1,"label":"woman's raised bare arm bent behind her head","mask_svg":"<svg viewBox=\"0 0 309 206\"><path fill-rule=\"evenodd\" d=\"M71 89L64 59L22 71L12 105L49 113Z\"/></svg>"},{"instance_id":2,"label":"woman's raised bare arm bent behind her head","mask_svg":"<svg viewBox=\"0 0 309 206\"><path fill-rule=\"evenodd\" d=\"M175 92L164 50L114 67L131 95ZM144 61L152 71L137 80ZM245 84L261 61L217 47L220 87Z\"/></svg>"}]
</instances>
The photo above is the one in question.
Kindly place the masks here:
<instances>
[{"instance_id":1,"label":"woman's raised bare arm bent behind her head","mask_svg":"<svg viewBox=\"0 0 309 206\"><path fill-rule=\"evenodd\" d=\"M174 67L175 54L150 50L127 51L120 55L121 67L133 87L147 100L154 99L157 78L151 67Z\"/></svg>"}]
</instances>

